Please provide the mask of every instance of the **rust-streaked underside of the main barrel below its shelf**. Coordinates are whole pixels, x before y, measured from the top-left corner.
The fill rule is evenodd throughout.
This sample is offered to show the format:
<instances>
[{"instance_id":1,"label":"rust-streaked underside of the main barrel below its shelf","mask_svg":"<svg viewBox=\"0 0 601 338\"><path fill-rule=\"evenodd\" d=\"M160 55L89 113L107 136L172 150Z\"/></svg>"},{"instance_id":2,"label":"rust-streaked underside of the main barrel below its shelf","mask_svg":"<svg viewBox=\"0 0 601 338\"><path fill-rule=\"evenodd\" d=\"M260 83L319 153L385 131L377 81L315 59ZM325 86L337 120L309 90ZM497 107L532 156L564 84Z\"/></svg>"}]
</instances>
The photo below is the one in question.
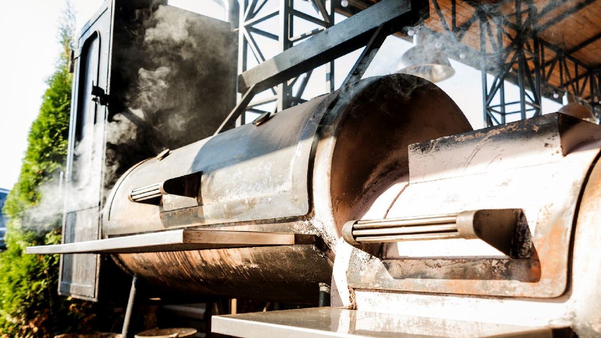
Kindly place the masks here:
<instances>
[{"instance_id":1,"label":"rust-streaked underside of the main barrel below its shelf","mask_svg":"<svg viewBox=\"0 0 601 338\"><path fill-rule=\"evenodd\" d=\"M118 254L127 269L163 293L317 303L331 263L314 245Z\"/></svg>"}]
</instances>

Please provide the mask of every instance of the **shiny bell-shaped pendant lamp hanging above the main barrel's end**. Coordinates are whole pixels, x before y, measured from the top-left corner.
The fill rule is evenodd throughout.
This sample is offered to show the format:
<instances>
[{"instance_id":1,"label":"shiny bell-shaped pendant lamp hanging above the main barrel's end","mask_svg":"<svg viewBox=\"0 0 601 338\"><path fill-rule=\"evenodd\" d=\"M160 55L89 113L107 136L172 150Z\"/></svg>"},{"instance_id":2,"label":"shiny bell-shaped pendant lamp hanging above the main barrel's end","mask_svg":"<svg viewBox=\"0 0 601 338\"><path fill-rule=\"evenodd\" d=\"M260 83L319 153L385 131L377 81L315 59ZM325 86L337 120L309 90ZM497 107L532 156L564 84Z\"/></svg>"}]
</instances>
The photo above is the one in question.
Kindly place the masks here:
<instances>
[{"instance_id":1,"label":"shiny bell-shaped pendant lamp hanging above the main barrel's end","mask_svg":"<svg viewBox=\"0 0 601 338\"><path fill-rule=\"evenodd\" d=\"M447 56L441 51L441 45L435 41L428 41L424 33L418 29L413 35L413 47L401 56L397 73L415 75L431 82L439 82L453 76L455 70L451 67Z\"/></svg>"}]
</instances>

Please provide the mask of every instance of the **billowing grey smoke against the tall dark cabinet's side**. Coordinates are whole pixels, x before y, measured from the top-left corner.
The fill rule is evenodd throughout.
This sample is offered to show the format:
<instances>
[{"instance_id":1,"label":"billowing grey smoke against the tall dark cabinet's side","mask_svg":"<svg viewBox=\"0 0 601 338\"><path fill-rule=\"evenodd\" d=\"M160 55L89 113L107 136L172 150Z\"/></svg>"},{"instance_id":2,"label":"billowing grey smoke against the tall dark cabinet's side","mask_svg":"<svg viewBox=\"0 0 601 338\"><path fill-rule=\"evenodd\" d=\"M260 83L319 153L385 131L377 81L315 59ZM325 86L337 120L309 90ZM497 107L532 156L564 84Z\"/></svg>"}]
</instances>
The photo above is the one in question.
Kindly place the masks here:
<instances>
[{"instance_id":1,"label":"billowing grey smoke against the tall dark cabinet's side","mask_svg":"<svg viewBox=\"0 0 601 338\"><path fill-rule=\"evenodd\" d=\"M119 46L118 105L109 107L105 188L127 168L165 148L212 135L225 102L232 41L207 17L177 7L135 10ZM228 29L229 32L229 29ZM220 78L216 78L218 75Z\"/></svg>"}]
</instances>

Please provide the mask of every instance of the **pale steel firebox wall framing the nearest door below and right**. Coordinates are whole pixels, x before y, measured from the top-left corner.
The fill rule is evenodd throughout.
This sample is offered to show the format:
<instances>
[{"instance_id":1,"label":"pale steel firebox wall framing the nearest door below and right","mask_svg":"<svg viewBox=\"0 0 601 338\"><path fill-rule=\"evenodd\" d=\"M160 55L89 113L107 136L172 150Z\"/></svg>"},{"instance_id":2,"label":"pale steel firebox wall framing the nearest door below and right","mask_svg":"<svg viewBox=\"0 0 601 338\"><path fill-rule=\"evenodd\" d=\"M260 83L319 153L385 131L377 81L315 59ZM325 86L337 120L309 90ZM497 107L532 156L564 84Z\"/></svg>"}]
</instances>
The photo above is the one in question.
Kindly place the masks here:
<instances>
[{"instance_id":1,"label":"pale steel firebox wall framing the nearest door below and right","mask_svg":"<svg viewBox=\"0 0 601 338\"><path fill-rule=\"evenodd\" d=\"M601 144L593 143L588 146L599 149ZM586 174L585 181L585 186L577 197L578 216L570 233L572 250L567 289L560 297L478 297L356 289L353 292L355 306L361 311L394 316L424 316L501 325L569 327L578 337L601 336L601 255L596 250L601 242L601 227L598 226L601 218L601 163L598 157L594 160L590 173ZM554 247L553 244L549 246ZM469 275L457 278L466 277Z\"/></svg>"}]
</instances>

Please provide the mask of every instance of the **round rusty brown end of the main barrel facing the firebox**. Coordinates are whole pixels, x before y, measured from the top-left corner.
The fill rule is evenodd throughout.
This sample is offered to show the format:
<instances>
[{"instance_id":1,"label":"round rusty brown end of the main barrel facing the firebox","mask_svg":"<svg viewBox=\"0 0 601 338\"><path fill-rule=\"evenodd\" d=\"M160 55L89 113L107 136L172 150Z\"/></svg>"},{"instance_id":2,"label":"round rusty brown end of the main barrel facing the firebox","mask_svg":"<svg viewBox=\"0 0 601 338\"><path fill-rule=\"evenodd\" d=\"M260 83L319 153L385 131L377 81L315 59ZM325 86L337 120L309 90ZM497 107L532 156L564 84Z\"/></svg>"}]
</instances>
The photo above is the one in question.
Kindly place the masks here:
<instances>
[{"instance_id":1,"label":"round rusty brown end of the main barrel facing the firebox","mask_svg":"<svg viewBox=\"0 0 601 338\"><path fill-rule=\"evenodd\" d=\"M385 216L407 180L409 144L472 130L444 91L410 75L343 88L331 110L323 124L339 127L320 130L313 170L316 219L331 248L347 221Z\"/></svg>"}]
</instances>

